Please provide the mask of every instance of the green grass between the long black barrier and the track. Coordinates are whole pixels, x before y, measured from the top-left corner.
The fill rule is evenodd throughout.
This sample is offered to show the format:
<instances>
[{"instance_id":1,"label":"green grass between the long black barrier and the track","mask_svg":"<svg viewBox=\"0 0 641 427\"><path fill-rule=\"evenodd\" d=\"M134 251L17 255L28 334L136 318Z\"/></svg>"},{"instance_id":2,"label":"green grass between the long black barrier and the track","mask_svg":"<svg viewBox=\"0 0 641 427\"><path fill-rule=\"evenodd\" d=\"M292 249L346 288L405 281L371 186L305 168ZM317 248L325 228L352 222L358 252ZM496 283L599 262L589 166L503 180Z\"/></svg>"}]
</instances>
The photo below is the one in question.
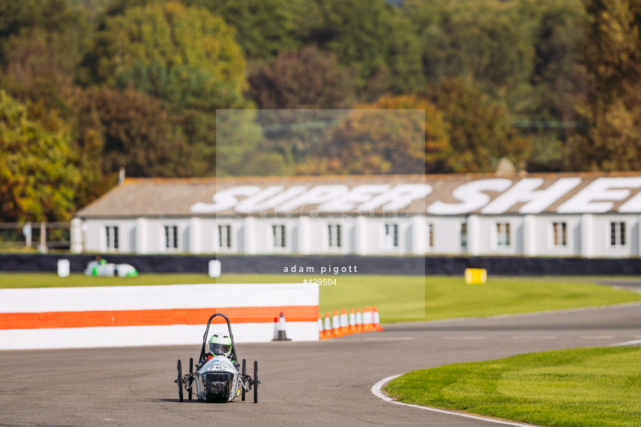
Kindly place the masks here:
<instances>
[{"instance_id":1,"label":"green grass between the long black barrier and the track","mask_svg":"<svg viewBox=\"0 0 641 427\"><path fill-rule=\"evenodd\" d=\"M332 275L336 285L321 286L320 311L376 305L381 321L494 316L641 301L641 293L612 289L576 277L493 277L483 285L462 277ZM222 275L221 283L302 282L304 275ZM211 283L208 275L141 274L88 277L79 273L0 273L0 288L136 286Z\"/></svg>"}]
</instances>

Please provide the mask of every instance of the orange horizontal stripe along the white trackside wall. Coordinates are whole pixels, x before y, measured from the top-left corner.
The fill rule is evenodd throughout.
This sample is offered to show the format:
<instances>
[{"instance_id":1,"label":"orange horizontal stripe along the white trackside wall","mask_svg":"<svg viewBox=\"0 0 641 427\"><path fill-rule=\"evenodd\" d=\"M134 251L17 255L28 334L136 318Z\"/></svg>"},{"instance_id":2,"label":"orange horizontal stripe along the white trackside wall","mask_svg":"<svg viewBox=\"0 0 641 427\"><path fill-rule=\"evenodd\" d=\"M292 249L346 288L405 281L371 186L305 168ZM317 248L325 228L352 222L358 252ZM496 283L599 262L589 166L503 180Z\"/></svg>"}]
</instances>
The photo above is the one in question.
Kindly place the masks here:
<instances>
[{"instance_id":1,"label":"orange horizontal stripe along the white trackside wall","mask_svg":"<svg viewBox=\"0 0 641 427\"><path fill-rule=\"evenodd\" d=\"M231 323L272 323L281 312L287 321L316 322L318 305L288 307L176 308L99 312L0 313L0 330L88 328L101 326L204 325L222 312ZM222 317L212 323L224 323Z\"/></svg>"}]
</instances>

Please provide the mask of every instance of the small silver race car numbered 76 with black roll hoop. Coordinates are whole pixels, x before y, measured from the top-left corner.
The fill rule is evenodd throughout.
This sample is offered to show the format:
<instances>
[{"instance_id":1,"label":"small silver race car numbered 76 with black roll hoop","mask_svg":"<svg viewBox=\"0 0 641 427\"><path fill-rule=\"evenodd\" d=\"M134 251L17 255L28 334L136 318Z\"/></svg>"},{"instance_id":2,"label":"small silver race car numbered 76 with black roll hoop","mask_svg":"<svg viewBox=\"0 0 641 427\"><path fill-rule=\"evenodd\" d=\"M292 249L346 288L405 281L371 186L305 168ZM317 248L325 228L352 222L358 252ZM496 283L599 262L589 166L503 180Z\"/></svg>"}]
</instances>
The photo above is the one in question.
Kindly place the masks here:
<instances>
[{"instance_id":1,"label":"small silver race car numbered 76 with black roll hoop","mask_svg":"<svg viewBox=\"0 0 641 427\"><path fill-rule=\"evenodd\" d=\"M211 357L213 348L207 345L209 334L209 325L211 321L222 316L227 321L229 330L229 339L231 340L231 353L229 357L224 355L215 355ZM261 380L258 379L258 362L254 360L254 378L246 373L245 359L242 360L242 369L237 362L236 346L233 343L231 334L231 324L227 316L216 313L209 318L205 335L203 335L203 346L201 354L196 363L194 372L194 359L190 358L190 371L183 376L183 368L178 360L178 377L174 382L178 384L178 398L183 401L183 388L187 390L187 396L192 399L194 393L194 384L196 385L196 397L199 401L206 402L231 402L233 399L241 396L245 400L245 393L254 390L254 403L258 403L258 385Z\"/></svg>"}]
</instances>

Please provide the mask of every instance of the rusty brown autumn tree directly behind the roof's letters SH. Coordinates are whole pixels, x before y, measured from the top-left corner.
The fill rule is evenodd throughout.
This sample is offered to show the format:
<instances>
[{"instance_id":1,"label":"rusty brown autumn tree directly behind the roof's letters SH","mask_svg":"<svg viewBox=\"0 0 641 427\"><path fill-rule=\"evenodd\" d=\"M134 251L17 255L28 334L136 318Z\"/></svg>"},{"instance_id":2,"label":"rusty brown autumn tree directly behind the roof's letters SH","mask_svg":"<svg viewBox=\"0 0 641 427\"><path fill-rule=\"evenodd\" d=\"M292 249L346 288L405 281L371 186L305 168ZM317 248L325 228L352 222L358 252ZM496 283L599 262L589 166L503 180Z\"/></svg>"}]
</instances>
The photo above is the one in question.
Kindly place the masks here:
<instances>
[{"instance_id":1,"label":"rusty brown autumn tree directly behind the roof's letters SH","mask_svg":"<svg viewBox=\"0 0 641 427\"><path fill-rule=\"evenodd\" d=\"M449 126L451 172L493 172L506 157L523 169L530 140L518 136L507 110L466 79L446 79L428 90L428 99Z\"/></svg>"}]
</instances>

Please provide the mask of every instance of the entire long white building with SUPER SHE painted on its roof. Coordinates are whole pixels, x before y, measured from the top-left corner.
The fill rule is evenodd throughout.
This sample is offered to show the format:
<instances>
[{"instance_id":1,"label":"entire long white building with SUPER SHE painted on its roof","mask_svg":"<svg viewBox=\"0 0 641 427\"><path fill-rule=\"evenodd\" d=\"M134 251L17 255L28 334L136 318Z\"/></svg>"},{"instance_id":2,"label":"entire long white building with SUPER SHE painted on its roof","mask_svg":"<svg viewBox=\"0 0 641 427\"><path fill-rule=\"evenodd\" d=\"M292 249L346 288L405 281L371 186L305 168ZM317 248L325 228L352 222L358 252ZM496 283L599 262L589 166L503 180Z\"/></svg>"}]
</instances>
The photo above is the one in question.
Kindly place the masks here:
<instances>
[{"instance_id":1,"label":"entire long white building with SUPER SHE painted on its roof","mask_svg":"<svg viewBox=\"0 0 641 427\"><path fill-rule=\"evenodd\" d=\"M126 179L72 251L641 255L641 174Z\"/></svg>"}]
</instances>

